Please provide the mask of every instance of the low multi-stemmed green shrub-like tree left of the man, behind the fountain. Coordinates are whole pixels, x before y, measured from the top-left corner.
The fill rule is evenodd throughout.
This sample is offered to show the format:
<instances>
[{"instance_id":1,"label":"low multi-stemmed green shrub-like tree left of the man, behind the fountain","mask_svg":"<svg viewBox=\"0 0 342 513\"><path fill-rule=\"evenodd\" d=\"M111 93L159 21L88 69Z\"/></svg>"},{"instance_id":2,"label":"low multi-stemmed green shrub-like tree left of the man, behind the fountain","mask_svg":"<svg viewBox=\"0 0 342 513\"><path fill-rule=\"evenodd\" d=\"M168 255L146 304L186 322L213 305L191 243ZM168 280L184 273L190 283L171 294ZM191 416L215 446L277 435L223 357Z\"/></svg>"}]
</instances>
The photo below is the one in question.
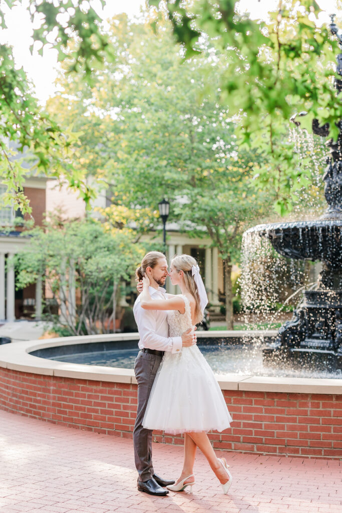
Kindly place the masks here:
<instances>
[{"instance_id":1,"label":"low multi-stemmed green shrub-like tree left of the man, behind the fountain","mask_svg":"<svg viewBox=\"0 0 342 513\"><path fill-rule=\"evenodd\" d=\"M55 217L25 236L30 243L15 257L17 288L45 281L59 309L47 318L70 334L108 333L111 323L115 331L118 285L130 279L145 249L125 230L108 231L93 220Z\"/></svg>"}]
</instances>

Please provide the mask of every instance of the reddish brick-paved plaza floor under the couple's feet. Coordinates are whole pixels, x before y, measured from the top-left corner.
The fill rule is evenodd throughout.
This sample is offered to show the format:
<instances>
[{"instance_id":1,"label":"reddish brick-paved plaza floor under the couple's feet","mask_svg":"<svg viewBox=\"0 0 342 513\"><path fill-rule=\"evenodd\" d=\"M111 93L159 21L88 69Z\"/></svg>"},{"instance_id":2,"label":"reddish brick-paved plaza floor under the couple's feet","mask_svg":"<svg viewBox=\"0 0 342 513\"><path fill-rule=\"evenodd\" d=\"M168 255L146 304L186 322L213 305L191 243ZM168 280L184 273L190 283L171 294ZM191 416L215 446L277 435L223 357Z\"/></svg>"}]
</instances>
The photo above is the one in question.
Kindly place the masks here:
<instances>
[{"instance_id":1,"label":"reddish brick-paved plaza floor under the couple's feet","mask_svg":"<svg viewBox=\"0 0 342 513\"><path fill-rule=\"evenodd\" d=\"M153 445L156 472L177 477L183 449ZM217 451L219 455L220 451ZM342 461L224 455L234 482L222 494L198 453L193 494L138 492L129 438L100 435L0 410L2 513L341 513Z\"/></svg>"}]
</instances>

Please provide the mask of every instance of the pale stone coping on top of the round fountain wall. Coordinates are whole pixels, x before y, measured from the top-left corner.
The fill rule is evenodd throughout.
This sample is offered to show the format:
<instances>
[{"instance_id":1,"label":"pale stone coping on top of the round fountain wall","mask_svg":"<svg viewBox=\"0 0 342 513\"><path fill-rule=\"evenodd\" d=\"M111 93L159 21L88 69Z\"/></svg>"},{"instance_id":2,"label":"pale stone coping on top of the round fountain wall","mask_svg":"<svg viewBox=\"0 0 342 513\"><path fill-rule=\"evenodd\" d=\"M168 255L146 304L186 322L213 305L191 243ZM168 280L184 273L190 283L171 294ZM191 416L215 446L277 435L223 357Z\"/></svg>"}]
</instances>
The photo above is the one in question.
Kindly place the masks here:
<instances>
[{"instance_id":1,"label":"pale stone coping on top of the round fountain wall","mask_svg":"<svg viewBox=\"0 0 342 513\"><path fill-rule=\"evenodd\" d=\"M208 337L208 334L210 337L260 337L265 335L273 337L276 331L199 331L197 337ZM20 372L43 374L44 376L136 384L133 369L58 362L39 358L29 353L37 349L59 345L125 340L138 341L138 339L138 333L109 333L4 344L0 346L0 367ZM216 378L222 390L342 394L342 380L338 379L277 378L232 373L216 374Z\"/></svg>"}]
</instances>

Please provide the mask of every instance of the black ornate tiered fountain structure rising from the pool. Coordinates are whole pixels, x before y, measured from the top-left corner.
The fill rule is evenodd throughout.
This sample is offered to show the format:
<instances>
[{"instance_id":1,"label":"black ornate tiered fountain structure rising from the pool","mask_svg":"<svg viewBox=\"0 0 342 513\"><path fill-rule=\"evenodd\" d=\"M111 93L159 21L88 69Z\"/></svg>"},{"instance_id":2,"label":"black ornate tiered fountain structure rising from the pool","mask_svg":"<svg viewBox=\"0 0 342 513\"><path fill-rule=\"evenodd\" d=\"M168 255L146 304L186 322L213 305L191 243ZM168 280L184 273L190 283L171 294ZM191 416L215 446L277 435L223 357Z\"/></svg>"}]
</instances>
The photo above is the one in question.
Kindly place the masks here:
<instances>
[{"instance_id":1,"label":"black ornate tiered fountain structure rising from the pool","mask_svg":"<svg viewBox=\"0 0 342 513\"><path fill-rule=\"evenodd\" d=\"M334 16L330 30L342 49ZM337 73L342 76L342 53L337 56ZM335 86L338 92L342 91L342 80L336 79ZM293 121L299 125L295 116ZM325 214L316 221L258 225L248 230L268 238L285 257L323 263L316 290L304 291L303 302L291 321L280 327L275 341L264 349L263 358L268 365L342 369L342 121L338 126L337 141L327 143L330 157L323 176L328 203ZM319 127L317 120L312 129L321 136L329 133L329 126Z\"/></svg>"}]
</instances>

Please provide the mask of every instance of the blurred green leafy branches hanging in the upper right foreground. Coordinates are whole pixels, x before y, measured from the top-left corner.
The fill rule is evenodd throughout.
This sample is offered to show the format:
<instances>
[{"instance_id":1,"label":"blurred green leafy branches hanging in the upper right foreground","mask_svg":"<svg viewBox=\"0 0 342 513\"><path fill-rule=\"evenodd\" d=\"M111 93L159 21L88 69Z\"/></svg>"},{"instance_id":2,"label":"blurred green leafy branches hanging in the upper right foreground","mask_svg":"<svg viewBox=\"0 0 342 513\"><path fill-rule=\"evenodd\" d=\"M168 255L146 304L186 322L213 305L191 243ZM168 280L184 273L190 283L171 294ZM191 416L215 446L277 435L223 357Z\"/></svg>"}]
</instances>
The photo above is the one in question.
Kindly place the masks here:
<instances>
[{"instance_id":1,"label":"blurred green leafy branches hanging in the upper right foreground","mask_svg":"<svg viewBox=\"0 0 342 513\"><path fill-rule=\"evenodd\" d=\"M314 0L279 0L270 22L239 15L237 0L149 0L172 24L186 58L206 51L202 41L224 52L225 69L217 69L221 102L235 116L239 147L255 148L263 165L257 181L276 192L274 207L281 215L292 209L293 192L307 184L310 172L299 166L287 137L288 120L307 111L302 125L311 129L314 118L329 123L338 134L341 96L334 89L336 38L315 25L320 9ZM159 5L160 4L160 5ZM161 14L160 14L161 13ZM157 19L156 19L157 21ZM299 185L298 185L299 184Z\"/></svg>"}]
</instances>

